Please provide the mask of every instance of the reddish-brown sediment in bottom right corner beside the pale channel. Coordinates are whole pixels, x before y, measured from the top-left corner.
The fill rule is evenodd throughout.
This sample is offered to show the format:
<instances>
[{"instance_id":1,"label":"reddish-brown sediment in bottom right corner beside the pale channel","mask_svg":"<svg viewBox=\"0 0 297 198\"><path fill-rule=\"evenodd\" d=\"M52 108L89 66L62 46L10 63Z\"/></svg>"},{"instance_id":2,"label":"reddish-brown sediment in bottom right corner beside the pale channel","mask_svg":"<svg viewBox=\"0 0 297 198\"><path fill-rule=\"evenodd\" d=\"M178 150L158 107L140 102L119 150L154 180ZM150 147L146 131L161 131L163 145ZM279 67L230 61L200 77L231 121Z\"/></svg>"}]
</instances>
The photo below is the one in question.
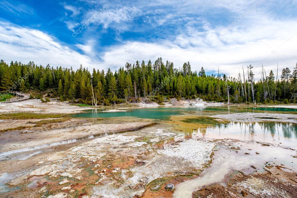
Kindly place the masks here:
<instances>
[{"instance_id":1,"label":"reddish-brown sediment in bottom right corner beside the pale channel","mask_svg":"<svg viewBox=\"0 0 297 198\"><path fill-rule=\"evenodd\" d=\"M297 178L296 172L288 172L274 166L271 173L254 173L249 175L233 174L225 181L225 186L214 184L193 192L192 197L296 197L297 186L291 178Z\"/></svg>"}]
</instances>

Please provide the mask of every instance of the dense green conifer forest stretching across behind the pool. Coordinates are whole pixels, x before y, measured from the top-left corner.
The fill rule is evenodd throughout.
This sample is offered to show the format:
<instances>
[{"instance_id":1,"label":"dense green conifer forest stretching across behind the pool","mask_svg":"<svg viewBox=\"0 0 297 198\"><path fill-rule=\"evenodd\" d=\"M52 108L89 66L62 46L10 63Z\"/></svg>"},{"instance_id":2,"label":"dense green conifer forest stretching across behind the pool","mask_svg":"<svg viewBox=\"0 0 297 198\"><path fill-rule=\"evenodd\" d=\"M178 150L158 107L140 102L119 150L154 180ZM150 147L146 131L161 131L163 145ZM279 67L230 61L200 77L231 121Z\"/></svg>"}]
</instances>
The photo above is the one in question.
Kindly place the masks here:
<instances>
[{"instance_id":1,"label":"dense green conifer forest stretching across behind the pool","mask_svg":"<svg viewBox=\"0 0 297 198\"><path fill-rule=\"evenodd\" d=\"M262 66L261 79L255 82L253 67L242 68L238 77L225 74L207 75L203 67L192 71L189 62L179 69L172 62L158 58L154 63L136 61L126 63L116 72L108 69L89 71L80 65L73 70L50 65L36 65L0 61L0 90L41 93L48 91L60 100L85 104L110 105L139 101L140 97L162 102L163 98L201 98L207 101L232 103L297 102L297 64L279 71L276 79L272 71L266 75ZM4 94L2 93L2 94ZM34 95L34 94L33 94ZM33 96L32 95L32 96ZM295 97L296 96L296 97Z\"/></svg>"}]
</instances>

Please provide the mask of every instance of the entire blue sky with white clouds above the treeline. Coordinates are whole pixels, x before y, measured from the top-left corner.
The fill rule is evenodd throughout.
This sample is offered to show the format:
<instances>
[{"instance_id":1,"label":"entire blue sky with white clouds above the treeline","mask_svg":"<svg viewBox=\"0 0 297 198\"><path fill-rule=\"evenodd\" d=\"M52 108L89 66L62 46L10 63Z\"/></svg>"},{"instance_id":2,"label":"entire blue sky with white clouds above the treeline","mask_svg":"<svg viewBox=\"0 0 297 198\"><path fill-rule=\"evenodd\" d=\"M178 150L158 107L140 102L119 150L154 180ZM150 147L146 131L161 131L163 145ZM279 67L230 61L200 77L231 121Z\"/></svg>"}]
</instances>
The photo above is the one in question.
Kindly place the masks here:
<instances>
[{"instance_id":1,"label":"entire blue sky with white clouds above the treeline","mask_svg":"<svg viewBox=\"0 0 297 198\"><path fill-rule=\"evenodd\" d=\"M113 71L162 57L237 76L291 70L297 0L0 1L0 58Z\"/></svg>"}]
</instances>

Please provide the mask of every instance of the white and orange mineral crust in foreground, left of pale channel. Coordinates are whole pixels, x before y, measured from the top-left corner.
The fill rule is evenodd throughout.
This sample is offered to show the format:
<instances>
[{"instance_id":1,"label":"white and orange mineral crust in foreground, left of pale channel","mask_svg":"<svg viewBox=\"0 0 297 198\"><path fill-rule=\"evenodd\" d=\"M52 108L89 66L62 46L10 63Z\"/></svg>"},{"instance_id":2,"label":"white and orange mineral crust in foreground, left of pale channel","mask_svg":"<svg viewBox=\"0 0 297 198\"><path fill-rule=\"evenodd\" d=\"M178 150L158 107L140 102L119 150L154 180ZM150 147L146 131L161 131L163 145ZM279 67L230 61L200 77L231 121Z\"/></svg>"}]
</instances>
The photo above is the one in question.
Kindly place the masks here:
<instances>
[{"instance_id":1,"label":"white and orange mineral crust in foreground, left of pale channel","mask_svg":"<svg viewBox=\"0 0 297 198\"><path fill-rule=\"evenodd\" d=\"M1 196L23 197L31 192L32 197L135 197L158 178L196 174L211 161L213 142L187 139L155 127L140 134L112 134L67 150L37 154L36 164L9 172L13 176L6 188L22 186L22 190Z\"/></svg>"}]
</instances>

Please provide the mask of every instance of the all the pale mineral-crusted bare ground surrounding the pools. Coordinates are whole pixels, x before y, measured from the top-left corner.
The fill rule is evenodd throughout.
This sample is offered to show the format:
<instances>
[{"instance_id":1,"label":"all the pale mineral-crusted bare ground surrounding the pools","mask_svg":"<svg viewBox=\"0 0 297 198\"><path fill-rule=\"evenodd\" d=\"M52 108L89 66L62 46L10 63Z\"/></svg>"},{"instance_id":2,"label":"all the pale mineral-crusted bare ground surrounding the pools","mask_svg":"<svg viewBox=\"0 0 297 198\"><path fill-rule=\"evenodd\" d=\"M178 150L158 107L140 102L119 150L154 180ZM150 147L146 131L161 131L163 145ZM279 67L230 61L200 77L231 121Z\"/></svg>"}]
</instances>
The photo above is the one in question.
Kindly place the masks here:
<instances>
[{"instance_id":1,"label":"all the pale mineral-crusted bare ground surrounding the pools","mask_svg":"<svg viewBox=\"0 0 297 198\"><path fill-rule=\"evenodd\" d=\"M174 99L165 105L200 104L207 105ZM67 114L88 108L54 100L0 105L3 113ZM289 114L212 117L296 123ZM296 197L297 147L184 134L170 127L174 120L155 124L69 118L34 124L42 120L48 119L0 122L1 129L28 127L0 133L0 197Z\"/></svg>"}]
</instances>

